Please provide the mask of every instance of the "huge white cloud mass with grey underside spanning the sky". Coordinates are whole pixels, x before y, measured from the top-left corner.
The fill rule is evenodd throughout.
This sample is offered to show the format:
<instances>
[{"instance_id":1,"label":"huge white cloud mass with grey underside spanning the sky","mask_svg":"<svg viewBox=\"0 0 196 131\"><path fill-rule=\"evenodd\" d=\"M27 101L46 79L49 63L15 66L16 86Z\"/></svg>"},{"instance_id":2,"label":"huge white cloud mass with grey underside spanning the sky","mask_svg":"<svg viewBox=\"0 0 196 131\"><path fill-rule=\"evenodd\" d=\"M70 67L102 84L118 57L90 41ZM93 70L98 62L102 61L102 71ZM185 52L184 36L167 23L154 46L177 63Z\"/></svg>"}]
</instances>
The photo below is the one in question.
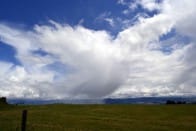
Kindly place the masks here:
<instances>
[{"instance_id":1,"label":"huge white cloud mass with grey underside spanning the sky","mask_svg":"<svg viewBox=\"0 0 196 131\"><path fill-rule=\"evenodd\" d=\"M189 30L194 29L194 1L141 2L148 2L145 8L160 13L139 19L116 38L106 31L54 21L32 30L0 24L1 41L16 48L16 58L22 64L0 62L0 95L46 99L194 93L195 31ZM191 11L185 10L189 8ZM189 36L192 43L165 54L159 37L173 28ZM33 53L38 50L46 55ZM58 63L65 71L51 68Z\"/></svg>"}]
</instances>

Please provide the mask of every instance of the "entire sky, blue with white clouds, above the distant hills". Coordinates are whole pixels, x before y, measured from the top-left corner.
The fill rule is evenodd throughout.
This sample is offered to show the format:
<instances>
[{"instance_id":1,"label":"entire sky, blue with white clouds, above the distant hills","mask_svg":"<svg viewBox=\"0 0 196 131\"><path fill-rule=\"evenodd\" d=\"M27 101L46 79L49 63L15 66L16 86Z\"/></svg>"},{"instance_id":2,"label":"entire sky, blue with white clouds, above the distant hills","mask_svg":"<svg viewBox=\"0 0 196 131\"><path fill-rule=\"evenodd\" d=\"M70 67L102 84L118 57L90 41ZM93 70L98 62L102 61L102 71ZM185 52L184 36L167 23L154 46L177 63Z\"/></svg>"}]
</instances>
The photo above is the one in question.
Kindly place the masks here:
<instances>
[{"instance_id":1,"label":"entire sky, blue with white clouds, above the distant hills","mask_svg":"<svg viewBox=\"0 0 196 131\"><path fill-rule=\"evenodd\" d=\"M195 5L195 0L1 0L0 96L195 96Z\"/></svg>"}]
</instances>

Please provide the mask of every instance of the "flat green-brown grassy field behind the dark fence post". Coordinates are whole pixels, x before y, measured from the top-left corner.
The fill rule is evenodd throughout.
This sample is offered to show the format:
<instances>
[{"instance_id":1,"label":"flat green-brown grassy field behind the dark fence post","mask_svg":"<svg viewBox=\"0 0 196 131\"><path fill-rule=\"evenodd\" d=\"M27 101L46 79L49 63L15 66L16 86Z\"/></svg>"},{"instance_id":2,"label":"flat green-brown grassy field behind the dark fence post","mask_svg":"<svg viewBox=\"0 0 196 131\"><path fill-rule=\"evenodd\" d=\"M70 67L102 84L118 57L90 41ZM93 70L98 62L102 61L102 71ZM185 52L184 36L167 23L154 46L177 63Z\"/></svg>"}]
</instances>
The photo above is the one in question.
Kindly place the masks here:
<instances>
[{"instance_id":1,"label":"flat green-brown grassy field behind the dark fence post","mask_svg":"<svg viewBox=\"0 0 196 131\"><path fill-rule=\"evenodd\" d=\"M180 131L196 130L196 105L39 105L1 106L0 131Z\"/></svg>"}]
</instances>

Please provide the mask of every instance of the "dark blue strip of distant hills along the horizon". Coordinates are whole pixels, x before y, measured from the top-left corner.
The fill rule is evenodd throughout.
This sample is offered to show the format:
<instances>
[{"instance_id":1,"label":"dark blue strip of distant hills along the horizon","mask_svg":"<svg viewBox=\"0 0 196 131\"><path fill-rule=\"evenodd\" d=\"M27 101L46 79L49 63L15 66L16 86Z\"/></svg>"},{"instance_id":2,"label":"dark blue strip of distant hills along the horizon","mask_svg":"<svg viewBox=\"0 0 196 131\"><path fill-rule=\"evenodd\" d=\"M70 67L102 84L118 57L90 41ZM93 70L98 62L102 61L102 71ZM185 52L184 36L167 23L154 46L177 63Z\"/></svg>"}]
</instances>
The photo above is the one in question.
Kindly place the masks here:
<instances>
[{"instance_id":1,"label":"dark blue strip of distant hills along the horizon","mask_svg":"<svg viewBox=\"0 0 196 131\"><path fill-rule=\"evenodd\" d=\"M196 97L139 97L139 98L105 98L105 99L66 99L66 100L40 100L40 99L8 99L10 104L165 104L168 100L186 103L196 103Z\"/></svg>"}]
</instances>

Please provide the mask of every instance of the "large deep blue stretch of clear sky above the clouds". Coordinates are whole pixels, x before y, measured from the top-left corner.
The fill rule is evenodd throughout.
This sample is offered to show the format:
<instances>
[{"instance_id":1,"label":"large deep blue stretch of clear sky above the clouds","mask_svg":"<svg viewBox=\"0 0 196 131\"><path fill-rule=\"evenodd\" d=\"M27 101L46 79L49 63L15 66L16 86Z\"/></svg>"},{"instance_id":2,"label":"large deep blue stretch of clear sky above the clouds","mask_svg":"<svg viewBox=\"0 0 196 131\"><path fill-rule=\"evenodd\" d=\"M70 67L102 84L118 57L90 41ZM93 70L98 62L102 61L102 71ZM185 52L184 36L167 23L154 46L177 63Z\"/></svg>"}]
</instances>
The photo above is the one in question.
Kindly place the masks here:
<instances>
[{"instance_id":1,"label":"large deep blue stretch of clear sky above the clouds","mask_svg":"<svg viewBox=\"0 0 196 131\"><path fill-rule=\"evenodd\" d=\"M84 19L85 25L93 28L96 26L94 21L97 16L103 12L120 15L120 10L124 7L114 0L3 0L0 8L1 20L25 26L46 23L50 19L76 25Z\"/></svg>"}]
</instances>

